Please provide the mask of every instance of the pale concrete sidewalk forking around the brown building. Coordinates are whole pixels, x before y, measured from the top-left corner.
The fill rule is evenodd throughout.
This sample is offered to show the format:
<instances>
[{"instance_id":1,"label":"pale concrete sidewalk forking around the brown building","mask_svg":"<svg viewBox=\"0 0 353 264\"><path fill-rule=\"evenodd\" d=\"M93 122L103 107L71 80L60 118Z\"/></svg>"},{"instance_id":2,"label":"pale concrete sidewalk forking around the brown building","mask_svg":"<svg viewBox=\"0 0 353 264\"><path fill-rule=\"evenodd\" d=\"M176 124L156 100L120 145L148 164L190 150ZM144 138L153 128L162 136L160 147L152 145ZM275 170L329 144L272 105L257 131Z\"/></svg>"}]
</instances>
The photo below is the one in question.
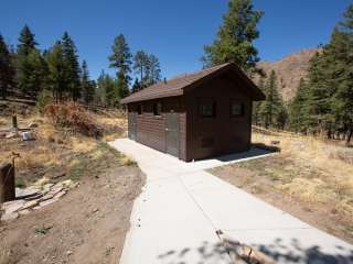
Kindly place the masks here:
<instances>
[{"instance_id":1,"label":"pale concrete sidewalk forking around the brown building","mask_svg":"<svg viewBox=\"0 0 353 264\"><path fill-rule=\"evenodd\" d=\"M256 246L277 263L353 263L353 245L203 170L268 155L264 151L184 163L127 139L110 145L147 175L120 264L232 263L223 237Z\"/></svg>"}]
</instances>

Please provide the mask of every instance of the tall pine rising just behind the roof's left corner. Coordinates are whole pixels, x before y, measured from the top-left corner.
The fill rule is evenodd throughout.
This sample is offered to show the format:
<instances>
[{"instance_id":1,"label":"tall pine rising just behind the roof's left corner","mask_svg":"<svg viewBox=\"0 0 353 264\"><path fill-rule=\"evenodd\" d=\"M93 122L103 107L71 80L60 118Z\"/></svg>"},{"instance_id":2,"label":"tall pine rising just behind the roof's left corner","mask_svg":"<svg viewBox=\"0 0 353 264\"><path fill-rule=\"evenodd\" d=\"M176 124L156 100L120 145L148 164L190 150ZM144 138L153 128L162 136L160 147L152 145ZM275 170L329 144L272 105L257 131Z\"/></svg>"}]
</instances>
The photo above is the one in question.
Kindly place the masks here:
<instances>
[{"instance_id":1,"label":"tall pine rising just behind the roof's left corner","mask_svg":"<svg viewBox=\"0 0 353 264\"><path fill-rule=\"evenodd\" d=\"M117 85L119 90L117 96L124 98L129 95L129 84L131 80L129 74L131 72L132 56L122 34L114 40L111 51L113 54L109 56L109 67L117 69ZM116 100L119 100L119 98L117 97Z\"/></svg>"}]
</instances>

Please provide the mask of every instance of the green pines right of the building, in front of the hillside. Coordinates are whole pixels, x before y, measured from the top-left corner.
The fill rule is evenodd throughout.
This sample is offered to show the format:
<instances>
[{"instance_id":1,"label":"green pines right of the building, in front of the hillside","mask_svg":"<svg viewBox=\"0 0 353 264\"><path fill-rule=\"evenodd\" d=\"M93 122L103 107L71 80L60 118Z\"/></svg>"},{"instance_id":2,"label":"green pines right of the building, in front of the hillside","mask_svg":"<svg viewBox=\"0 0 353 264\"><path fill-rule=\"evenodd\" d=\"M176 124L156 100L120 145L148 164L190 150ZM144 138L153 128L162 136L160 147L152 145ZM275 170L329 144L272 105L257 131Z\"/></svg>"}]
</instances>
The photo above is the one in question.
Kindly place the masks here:
<instances>
[{"instance_id":1,"label":"green pines right of the building, in front of the hillside","mask_svg":"<svg viewBox=\"0 0 353 264\"><path fill-rule=\"evenodd\" d=\"M285 106L272 72L258 87L267 98L256 103L254 122L328 139L346 140L353 133L353 4L334 28L329 44L310 61L308 77L301 79L295 98ZM265 84L265 85L264 85Z\"/></svg>"}]
</instances>

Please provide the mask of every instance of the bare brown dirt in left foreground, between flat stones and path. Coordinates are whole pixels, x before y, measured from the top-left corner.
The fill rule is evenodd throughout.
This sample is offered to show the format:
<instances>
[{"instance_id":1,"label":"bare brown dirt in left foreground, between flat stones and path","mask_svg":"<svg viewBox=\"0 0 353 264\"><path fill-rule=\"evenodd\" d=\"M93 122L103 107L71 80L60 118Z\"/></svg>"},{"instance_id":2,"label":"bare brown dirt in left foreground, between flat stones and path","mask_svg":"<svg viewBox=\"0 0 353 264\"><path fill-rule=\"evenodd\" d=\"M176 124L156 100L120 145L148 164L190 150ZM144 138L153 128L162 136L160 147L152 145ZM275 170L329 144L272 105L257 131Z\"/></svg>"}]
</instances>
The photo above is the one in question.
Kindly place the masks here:
<instances>
[{"instance_id":1,"label":"bare brown dirt in left foreground, between flat stones and path","mask_svg":"<svg viewBox=\"0 0 353 264\"><path fill-rule=\"evenodd\" d=\"M132 166L85 176L63 199L1 223L0 263L117 263L145 176Z\"/></svg>"}]
</instances>

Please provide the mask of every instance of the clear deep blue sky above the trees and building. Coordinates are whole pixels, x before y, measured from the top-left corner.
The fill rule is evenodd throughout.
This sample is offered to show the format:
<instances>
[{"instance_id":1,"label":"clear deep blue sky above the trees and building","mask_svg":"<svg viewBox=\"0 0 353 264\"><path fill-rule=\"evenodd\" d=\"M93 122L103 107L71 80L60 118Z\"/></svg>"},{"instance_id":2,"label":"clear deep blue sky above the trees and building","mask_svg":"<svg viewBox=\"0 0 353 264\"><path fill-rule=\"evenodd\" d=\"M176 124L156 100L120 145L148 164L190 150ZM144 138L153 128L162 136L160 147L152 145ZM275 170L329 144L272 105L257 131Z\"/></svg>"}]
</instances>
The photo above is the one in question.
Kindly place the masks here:
<instances>
[{"instance_id":1,"label":"clear deep blue sky above the trees and building","mask_svg":"<svg viewBox=\"0 0 353 264\"><path fill-rule=\"evenodd\" d=\"M327 43L352 0L255 0L265 11L256 41L259 56L276 61L301 48ZM15 45L28 23L41 48L64 31L96 78L108 70L113 40L122 33L131 52L145 50L160 59L162 75L202 67L203 45L213 41L226 0L1 0L0 33ZM113 73L111 70L108 70Z\"/></svg>"}]
</instances>

